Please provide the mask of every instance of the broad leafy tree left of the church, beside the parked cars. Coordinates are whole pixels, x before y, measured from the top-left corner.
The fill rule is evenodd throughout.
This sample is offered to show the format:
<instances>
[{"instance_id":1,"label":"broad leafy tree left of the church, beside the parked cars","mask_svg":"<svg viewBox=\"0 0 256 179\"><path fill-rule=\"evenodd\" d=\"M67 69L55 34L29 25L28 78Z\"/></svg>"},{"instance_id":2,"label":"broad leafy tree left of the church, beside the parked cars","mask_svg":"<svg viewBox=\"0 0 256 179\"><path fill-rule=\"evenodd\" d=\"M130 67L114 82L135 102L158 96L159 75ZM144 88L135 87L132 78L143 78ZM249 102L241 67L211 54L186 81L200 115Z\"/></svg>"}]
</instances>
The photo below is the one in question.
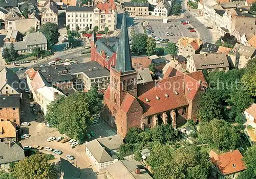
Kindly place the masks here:
<instances>
[{"instance_id":1,"label":"broad leafy tree left of the church, beside the parked cars","mask_svg":"<svg viewBox=\"0 0 256 179\"><path fill-rule=\"evenodd\" d=\"M47 106L47 122L57 127L61 134L65 133L70 138L82 142L93 119L92 115L96 113L96 108L92 105L96 104L95 101L100 101L98 99L94 101L88 96L95 97L94 94L83 92L59 97ZM101 101L100 103L102 104Z\"/></svg>"}]
</instances>

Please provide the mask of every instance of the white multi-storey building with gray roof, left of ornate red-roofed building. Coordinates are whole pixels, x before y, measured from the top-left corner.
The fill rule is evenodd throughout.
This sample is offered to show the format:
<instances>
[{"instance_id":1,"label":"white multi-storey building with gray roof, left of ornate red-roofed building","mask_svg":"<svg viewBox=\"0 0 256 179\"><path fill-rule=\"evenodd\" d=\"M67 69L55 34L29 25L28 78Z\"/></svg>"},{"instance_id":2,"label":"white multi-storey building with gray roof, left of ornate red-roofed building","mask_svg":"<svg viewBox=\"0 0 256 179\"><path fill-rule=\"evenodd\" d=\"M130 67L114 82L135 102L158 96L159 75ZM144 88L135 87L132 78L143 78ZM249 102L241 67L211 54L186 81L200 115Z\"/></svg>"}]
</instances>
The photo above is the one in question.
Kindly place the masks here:
<instances>
[{"instance_id":1,"label":"white multi-storey building with gray roof, left of ornate red-roofed building","mask_svg":"<svg viewBox=\"0 0 256 179\"><path fill-rule=\"evenodd\" d=\"M67 6L66 7L66 25L70 25L72 31L78 26L80 30L86 30L89 27L93 29L93 7L90 6Z\"/></svg>"}]
</instances>

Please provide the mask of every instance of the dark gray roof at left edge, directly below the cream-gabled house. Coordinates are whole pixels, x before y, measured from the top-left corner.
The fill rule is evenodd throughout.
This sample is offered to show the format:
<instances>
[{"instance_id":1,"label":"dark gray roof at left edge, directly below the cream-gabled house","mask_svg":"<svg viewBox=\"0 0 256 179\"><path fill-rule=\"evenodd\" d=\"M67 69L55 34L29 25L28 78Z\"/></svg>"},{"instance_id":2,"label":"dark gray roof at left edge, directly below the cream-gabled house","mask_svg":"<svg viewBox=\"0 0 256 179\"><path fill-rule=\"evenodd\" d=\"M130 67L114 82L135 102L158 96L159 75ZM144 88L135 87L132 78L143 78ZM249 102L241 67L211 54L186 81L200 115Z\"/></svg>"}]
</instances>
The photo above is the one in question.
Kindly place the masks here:
<instances>
[{"instance_id":1,"label":"dark gray roof at left edge, directly below the cream-gabled house","mask_svg":"<svg viewBox=\"0 0 256 179\"><path fill-rule=\"evenodd\" d=\"M17 95L0 95L1 108L19 108L19 96Z\"/></svg>"}]
</instances>

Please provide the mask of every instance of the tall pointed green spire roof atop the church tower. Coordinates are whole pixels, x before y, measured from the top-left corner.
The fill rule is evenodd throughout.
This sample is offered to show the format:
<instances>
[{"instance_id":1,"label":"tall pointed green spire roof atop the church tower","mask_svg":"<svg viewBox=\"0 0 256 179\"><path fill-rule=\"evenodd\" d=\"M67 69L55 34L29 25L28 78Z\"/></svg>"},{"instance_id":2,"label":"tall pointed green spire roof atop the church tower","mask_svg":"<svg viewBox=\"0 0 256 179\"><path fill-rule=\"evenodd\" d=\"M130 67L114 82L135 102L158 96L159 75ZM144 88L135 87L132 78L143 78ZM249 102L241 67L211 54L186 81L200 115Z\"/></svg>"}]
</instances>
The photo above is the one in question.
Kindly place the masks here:
<instances>
[{"instance_id":1,"label":"tall pointed green spire roof atop the church tower","mask_svg":"<svg viewBox=\"0 0 256 179\"><path fill-rule=\"evenodd\" d=\"M125 12L123 13L115 69L123 72L133 70Z\"/></svg>"}]
</instances>

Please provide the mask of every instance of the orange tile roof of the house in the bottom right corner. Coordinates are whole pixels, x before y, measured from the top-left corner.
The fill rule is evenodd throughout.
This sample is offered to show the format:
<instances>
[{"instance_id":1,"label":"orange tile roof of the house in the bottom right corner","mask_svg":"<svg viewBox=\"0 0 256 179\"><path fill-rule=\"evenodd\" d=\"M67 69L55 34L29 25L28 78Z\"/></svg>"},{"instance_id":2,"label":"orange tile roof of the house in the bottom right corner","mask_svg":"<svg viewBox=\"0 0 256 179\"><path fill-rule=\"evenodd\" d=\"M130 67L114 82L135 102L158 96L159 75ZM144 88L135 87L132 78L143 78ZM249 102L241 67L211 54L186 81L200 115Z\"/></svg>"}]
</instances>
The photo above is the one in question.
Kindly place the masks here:
<instances>
[{"instance_id":1,"label":"orange tile roof of the house in the bottom right corner","mask_svg":"<svg viewBox=\"0 0 256 179\"><path fill-rule=\"evenodd\" d=\"M214 151L209 152L210 160L214 163L224 175L245 170L243 156L239 150L233 150L224 154L216 154Z\"/></svg>"}]
</instances>

